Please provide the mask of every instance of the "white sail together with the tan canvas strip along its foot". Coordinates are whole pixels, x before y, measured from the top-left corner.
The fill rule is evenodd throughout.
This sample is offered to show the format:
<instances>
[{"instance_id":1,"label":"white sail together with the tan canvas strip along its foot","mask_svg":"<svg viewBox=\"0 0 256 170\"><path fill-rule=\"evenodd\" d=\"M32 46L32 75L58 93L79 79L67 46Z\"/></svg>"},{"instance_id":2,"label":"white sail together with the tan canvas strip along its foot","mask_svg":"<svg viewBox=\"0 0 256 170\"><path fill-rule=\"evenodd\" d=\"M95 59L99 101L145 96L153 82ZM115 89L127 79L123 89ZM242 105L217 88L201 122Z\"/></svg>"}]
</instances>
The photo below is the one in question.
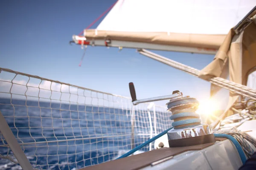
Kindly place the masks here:
<instances>
[{"instance_id":1,"label":"white sail together with the tan canvas strip along its foot","mask_svg":"<svg viewBox=\"0 0 256 170\"><path fill-rule=\"evenodd\" d=\"M119 0L87 40L218 50L256 0ZM189 52L189 51L188 51Z\"/></svg>"}]
</instances>

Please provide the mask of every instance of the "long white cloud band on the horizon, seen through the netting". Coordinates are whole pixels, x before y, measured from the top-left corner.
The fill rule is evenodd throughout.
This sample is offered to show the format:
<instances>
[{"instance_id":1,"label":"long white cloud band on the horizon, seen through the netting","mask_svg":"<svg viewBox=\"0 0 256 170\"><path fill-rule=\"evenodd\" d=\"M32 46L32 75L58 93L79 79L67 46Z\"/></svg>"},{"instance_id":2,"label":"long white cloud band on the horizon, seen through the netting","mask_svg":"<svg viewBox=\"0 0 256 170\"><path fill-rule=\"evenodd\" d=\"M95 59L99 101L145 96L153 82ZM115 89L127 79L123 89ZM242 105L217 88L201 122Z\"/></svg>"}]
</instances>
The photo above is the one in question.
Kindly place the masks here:
<instances>
[{"instance_id":1,"label":"long white cloud band on the horizon, seen through the netting","mask_svg":"<svg viewBox=\"0 0 256 170\"><path fill-rule=\"evenodd\" d=\"M32 82L34 81L34 82ZM12 94L12 95L11 95ZM15 98L45 102L120 107L131 105L129 99L84 90L60 83L34 80L0 79L0 98Z\"/></svg>"}]
</instances>

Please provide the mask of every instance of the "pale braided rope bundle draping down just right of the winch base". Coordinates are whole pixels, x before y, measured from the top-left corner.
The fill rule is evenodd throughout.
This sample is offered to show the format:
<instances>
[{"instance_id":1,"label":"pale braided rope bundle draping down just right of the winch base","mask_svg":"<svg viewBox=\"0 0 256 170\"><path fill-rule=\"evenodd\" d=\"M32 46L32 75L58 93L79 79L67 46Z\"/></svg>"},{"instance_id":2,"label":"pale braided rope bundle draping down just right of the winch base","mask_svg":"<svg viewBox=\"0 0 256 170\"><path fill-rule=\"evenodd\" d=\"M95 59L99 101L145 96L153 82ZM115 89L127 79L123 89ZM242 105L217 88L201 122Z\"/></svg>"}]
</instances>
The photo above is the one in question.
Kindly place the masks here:
<instances>
[{"instance_id":1,"label":"pale braided rope bundle draping down just right of the winch base","mask_svg":"<svg viewBox=\"0 0 256 170\"><path fill-rule=\"evenodd\" d=\"M241 147L243 148L244 152L249 158L250 156L253 155L254 150L248 142L250 142L251 144L253 144L253 146L256 147L256 141L252 137L250 137L247 133L241 132L241 130L237 130L236 128L232 130L218 130L218 131L215 131L214 133L227 134L227 135L233 136L241 144Z\"/></svg>"}]
</instances>

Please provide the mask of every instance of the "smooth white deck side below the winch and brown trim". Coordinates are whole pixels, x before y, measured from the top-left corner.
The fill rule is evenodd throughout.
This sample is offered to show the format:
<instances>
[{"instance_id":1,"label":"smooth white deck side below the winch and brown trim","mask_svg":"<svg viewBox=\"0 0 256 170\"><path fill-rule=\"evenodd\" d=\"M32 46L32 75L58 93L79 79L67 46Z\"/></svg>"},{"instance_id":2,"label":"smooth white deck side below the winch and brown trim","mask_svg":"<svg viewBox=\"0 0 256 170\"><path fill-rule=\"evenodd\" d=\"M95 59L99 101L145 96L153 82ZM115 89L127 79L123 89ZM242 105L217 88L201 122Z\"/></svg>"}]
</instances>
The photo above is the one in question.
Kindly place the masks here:
<instances>
[{"instance_id":1,"label":"smooth white deck side below the winch and brown trim","mask_svg":"<svg viewBox=\"0 0 256 170\"><path fill-rule=\"evenodd\" d=\"M242 161L236 147L230 140L224 140L203 150L181 153L143 170L238 170L241 166Z\"/></svg>"}]
</instances>

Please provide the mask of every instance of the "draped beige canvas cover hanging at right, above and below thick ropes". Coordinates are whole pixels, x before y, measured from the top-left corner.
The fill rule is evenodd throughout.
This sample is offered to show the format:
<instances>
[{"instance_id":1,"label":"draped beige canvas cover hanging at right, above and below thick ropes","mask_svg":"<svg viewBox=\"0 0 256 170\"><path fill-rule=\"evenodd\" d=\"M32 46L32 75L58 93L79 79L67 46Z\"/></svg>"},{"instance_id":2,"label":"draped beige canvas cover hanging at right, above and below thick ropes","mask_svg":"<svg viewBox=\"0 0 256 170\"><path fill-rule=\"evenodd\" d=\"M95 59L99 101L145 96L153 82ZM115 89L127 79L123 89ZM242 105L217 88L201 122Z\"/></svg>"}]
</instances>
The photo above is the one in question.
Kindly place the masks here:
<instances>
[{"instance_id":1,"label":"draped beige canvas cover hanging at right, above and below thick ropes","mask_svg":"<svg viewBox=\"0 0 256 170\"><path fill-rule=\"evenodd\" d=\"M248 17L252 21L240 34L235 34L233 29L230 30L214 60L201 70L200 77L207 79L229 76L230 81L255 89L256 11L252 13L252 16ZM211 95L216 94L220 89L216 85L211 85ZM229 109L237 99L239 99L239 95L230 93L227 108L220 119L232 114ZM212 126L215 127L215 125Z\"/></svg>"}]
</instances>

